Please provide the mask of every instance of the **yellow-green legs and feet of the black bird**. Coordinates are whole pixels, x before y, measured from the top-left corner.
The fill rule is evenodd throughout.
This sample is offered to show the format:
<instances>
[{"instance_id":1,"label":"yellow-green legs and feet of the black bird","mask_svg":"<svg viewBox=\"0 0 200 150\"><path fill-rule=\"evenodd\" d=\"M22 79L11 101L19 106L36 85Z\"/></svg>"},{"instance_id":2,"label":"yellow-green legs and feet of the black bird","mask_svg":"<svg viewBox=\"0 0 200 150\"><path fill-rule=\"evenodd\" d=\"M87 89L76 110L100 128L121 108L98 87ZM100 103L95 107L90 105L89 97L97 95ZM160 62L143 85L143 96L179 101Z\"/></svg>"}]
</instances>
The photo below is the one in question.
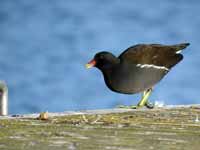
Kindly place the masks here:
<instances>
[{"instance_id":1,"label":"yellow-green legs and feet of the black bird","mask_svg":"<svg viewBox=\"0 0 200 150\"><path fill-rule=\"evenodd\" d=\"M139 101L137 105L131 106L119 106L120 108L132 108L137 109L146 106L147 108L153 108L154 105L148 102L148 98L151 95L152 88L148 89L147 91L143 92L142 99Z\"/></svg>"}]
</instances>

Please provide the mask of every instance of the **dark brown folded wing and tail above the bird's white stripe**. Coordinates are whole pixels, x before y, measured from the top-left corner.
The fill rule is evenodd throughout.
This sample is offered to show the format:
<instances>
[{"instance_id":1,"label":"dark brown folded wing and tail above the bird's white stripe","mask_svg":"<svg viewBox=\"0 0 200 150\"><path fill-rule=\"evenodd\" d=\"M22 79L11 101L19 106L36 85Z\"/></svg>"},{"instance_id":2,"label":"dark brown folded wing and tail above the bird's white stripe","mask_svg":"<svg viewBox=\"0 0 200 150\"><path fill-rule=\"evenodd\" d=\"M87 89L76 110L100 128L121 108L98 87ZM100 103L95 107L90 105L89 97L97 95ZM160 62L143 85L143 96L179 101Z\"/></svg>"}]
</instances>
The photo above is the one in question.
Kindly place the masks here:
<instances>
[{"instance_id":1,"label":"dark brown folded wing and tail above the bird's white stripe","mask_svg":"<svg viewBox=\"0 0 200 150\"><path fill-rule=\"evenodd\" d=\"M188 43L177 45L138 44L126 49L118 58L122 62L136 65L148 64L171 68L183 59L183 55L178 52L188 45Z\"/></svg>"}]
</instances>

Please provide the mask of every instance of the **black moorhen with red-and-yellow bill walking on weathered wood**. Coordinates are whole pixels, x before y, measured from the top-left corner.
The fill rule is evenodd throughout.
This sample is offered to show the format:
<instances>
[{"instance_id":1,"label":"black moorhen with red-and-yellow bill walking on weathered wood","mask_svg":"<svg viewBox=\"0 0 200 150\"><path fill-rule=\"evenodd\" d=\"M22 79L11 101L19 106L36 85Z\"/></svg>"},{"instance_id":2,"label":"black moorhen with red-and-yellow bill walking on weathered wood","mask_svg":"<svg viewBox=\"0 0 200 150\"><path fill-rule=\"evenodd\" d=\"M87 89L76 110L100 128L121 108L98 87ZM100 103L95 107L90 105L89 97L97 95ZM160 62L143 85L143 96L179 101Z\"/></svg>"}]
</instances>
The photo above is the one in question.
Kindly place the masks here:
<instances>
[{"instance_id":1,"label":"black moorhen with red-and-yellow bill walking on weathered wood","mask_svg":"<svg viewBox=\"0 0 200 150\"><path fill-rule=\"evenodd\" d=\"M102 51L86 67L100 69L106 85L112 91L124 94L143 92L137 106L130 108L153 108L148 102L152 88L183 59L180 52L188 45L138 44L129 47L118 57Z\"/></svg>"}]
</instances>

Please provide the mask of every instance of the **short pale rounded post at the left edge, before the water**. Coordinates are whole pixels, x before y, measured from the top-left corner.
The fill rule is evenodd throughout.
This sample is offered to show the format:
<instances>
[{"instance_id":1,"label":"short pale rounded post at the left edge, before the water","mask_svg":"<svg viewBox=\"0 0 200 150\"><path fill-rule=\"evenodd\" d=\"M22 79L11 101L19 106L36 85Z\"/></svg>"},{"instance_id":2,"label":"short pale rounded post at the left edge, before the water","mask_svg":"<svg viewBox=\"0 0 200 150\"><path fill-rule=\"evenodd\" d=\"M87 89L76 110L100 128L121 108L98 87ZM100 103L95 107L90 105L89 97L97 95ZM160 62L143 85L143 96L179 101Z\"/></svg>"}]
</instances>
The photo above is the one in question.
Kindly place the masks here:
<instances>
[{"instance_id":1,"label":"short pale rounded post at the left edge, before the water","mask_svg":"<svg viewBox=\"0 0 200 150\"><path fill-rule=\"evenodd\" d=\"M8 87L4 81L0 81L0 115L8 115Z\"/></svg>"}]
</instances>

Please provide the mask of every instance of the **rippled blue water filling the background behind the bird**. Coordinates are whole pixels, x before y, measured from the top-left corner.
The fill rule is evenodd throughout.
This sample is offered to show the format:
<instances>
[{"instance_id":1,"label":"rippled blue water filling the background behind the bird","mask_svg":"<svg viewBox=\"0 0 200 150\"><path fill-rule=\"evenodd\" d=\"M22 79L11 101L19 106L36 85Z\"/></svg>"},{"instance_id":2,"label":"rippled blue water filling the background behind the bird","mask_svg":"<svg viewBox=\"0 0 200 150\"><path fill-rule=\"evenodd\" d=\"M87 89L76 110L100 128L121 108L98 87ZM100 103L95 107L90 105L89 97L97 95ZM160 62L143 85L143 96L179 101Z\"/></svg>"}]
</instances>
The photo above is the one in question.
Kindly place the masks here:
<instances>
[{"instance_id":1,"label":"rippled blue water filling the background behind the bird","mask_svg":"<svg viewBox=\"0 0 200 150\"><path fill-rule=\"evenodd\" d=\"M112 108L140 95L110 91L84 64L101 50L137 43L190 42L185 58L156 86L152 101L200 103L200 1L2 0L0 79L10 113Z\"/></svg>"}]
</instances>

